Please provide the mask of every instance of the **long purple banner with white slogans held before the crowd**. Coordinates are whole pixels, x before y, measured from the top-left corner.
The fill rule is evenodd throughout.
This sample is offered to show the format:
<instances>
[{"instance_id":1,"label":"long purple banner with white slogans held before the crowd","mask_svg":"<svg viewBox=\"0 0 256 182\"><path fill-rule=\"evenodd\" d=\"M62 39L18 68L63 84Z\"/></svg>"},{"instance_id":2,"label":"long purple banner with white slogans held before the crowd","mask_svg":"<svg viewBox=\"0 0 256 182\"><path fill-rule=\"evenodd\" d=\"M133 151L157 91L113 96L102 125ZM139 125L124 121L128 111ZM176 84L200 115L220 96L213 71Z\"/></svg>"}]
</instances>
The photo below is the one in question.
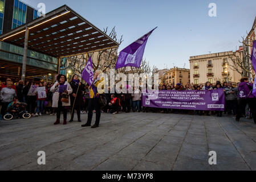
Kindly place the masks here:
<instances>
[{"instance_id":1,"label":"long purple banner with white slogans held before the crowd","mask_svg":"<svg viewBox=\"0 0 256 182\"><path fill-rule=\"evenodd\" d=\"M218 90L149 90L143 93L144 107L188 110L220 110L225 108L223 89Z\"/></svg>"}]
</instances>

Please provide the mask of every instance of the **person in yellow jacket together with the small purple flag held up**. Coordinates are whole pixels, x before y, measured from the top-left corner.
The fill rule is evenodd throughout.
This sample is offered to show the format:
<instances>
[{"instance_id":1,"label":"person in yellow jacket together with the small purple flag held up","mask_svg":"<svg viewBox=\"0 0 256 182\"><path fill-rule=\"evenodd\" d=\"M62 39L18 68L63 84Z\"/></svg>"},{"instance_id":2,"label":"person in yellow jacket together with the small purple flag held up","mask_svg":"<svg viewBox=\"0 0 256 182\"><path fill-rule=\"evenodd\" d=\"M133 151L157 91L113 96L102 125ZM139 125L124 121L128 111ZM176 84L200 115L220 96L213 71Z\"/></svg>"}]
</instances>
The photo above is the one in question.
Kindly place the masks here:
<instances>
[{"instance_id":1,"label":"person in yellow jacket together with the small purple flag held up","mask_svg":"<svg viewBox=\"0 0 256 182\"><path fill-rule=\"evenodd\" d=\"M104 88L101 88L101 85L105 85L104 78L100 78L101 71L97 70L95 73L93 72L94 69L92 67L92 59L88 60L86 67L84 68L84 71L82 73L82 78L84 81L86 81L90 86L90 100L88 104L88 118L86 124L82 125L82 127L88 127L91 126L92 122L92 111L96 110L96 121L94 126L91 128L99 127L100 124L100 104L99 104L99 94L104 93Z\"/></svg>"}]
</instances>

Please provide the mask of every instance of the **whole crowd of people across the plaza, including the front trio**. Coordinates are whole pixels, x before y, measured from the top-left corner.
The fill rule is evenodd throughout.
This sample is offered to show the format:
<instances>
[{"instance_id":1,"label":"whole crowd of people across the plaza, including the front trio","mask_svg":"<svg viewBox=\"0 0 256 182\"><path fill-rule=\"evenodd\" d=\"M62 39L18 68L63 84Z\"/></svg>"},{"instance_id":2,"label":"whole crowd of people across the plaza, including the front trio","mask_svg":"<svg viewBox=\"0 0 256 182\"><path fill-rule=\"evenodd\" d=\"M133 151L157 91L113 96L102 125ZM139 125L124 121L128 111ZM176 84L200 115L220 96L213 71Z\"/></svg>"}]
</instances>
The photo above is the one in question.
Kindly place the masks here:
<instances>
[{"instance_id":1,"label":"whole crowd of people across the plaza, including the front trio","mask_svg":"<svg viewBox=\"0 0 256 182\"><path fill-rule=\"evenodd\" d=\"M101 113L118 114L120 112L154 112L154 113L181 113L181 114L198 114L198 115L214 115L222 117L223 114L233 115L239 121L241 117L253 118L256 123L256 98L253 95L253 84L249 83L248 78L241 78L237 85L232 82L217 81L216 85L212 85L209 81L205 85L194 85L189 82L185 86L178 83L176 85L160 85L159 90L213 90L221 89L225 93L225 111L203 111L203 110L177 110L162 109L153 107L143 107L141 105L141 88L133 88L133 93L105 93L107 105L99 106L100 94L103 91L97 90L97 85L104 81L94 75L94 83L84 85L79 80L78 75L74 75L68 82L66 76L58 75L56 82L33 82L20 80L15 85L10 78L6 82L2 82L0 90L1 100L1 117L10 110L15 110L16 103L26 103L26 110L34 117L43 114L56 115L55 125L60 123L60 115L63 113L63 124L67 124L67 113L70 111L71 118L69 122L74 121L74 113L76 111L78 122L81 121L81 114L88 113L87 123L82 127L91 126L92 115L96 113L96 121L93 127L98 127ZM46 97L39 98L38 93L35 96L28 96L31 85L44 87ZM60 88L64 87L63 92ZM109 88L108 88L109 89ZM154 86L152 87L154 89ZM110 90L110 89L109 89Z\"/></svg>"}]
</instances>

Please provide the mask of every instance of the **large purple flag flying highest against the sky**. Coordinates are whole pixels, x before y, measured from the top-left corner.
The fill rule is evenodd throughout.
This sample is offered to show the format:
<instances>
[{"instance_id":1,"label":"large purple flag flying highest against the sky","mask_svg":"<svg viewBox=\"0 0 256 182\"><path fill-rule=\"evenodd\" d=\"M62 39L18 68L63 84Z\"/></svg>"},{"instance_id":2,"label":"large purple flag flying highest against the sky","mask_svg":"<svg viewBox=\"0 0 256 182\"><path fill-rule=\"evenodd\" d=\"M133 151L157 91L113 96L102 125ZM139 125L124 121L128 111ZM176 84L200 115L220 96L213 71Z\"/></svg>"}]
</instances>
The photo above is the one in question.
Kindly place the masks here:
<instances>
[{"instance_id":1,"label":"large purple flag flying highest against the sky","mask_svg":"<svg viewBox=\"0 0 256 182\"><path fill-rule=\"evenodd\" d=\"M119 53L119 57L116 61L116 69L122 67L140 67L148 37L156 28L154 28L153 30L148 32L148 34L145 34L140 39L136 40L135 42L124 48Z\"/></svg>"}]
</instances>

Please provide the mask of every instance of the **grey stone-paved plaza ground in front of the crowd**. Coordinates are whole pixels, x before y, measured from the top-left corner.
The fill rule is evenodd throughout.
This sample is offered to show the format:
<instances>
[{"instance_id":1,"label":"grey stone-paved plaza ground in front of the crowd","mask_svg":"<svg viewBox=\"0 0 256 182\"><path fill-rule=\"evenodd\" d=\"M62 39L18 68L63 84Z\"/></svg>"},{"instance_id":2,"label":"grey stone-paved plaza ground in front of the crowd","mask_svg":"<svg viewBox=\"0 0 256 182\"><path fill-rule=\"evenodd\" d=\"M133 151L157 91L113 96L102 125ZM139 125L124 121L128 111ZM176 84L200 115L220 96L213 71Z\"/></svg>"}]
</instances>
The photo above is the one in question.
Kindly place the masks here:
<instances>
[{"instance_id":1,"label":"grey stone-paved plaza ground in front of the crowd","mask_svg":"<svg viewBox=\"0 0 256 182\"><path fill-rule=\"evenodd\" d=\"M252 119L104 113L91 129L80 127L87 114L68 125L54 126L55 118L0 121L0 170L256 170ZM38 151L46 165L38 165Z\"/></svg>"}]
</instances>

